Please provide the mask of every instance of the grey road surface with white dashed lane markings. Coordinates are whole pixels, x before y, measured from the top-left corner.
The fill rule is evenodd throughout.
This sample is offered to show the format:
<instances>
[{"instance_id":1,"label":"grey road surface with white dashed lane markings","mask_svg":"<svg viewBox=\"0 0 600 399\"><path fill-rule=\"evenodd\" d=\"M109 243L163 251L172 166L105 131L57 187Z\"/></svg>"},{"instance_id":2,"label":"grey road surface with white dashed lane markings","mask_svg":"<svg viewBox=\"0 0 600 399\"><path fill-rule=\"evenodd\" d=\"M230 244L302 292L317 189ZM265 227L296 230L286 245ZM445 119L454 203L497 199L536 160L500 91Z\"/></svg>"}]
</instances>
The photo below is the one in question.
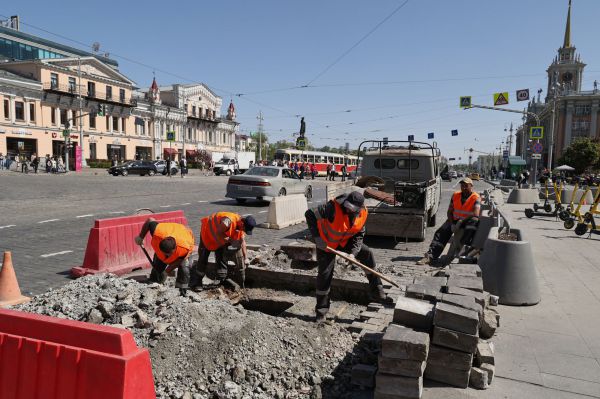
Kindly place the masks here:
<instances>
[{"instance_id":1,"label":"grey road surface with white dashed lane markings","mask_svg":"<svg viewBox=\"0 0 600 399\"><path fill-rule=\"evenodd\" d=\"M43 293L69 281L71 267L83 263L85 247L94 220L129 215L139 208L156 212L181 209L197 234L200 219L218 211L252 214L266 221L268 203L249 201L244 205L226 199L227 177L191 175L179 177L113 177L104 171L70 175L0 174L0 251L12 251L21 290L26 295ZM312 182L311 182L312 183ZM325 199L325 180L313 184L313 201ZM456 190L457 181L444 183L441 215ZM483 187L483 186L482 186ZM481 187L476 187L481 188ZM283 230L256 229L250 242L277 245L282 239L303 235L304 226ZM382 259L419 257L431 239L428 229L424 243L370 240ZM402 251L398 257L398 251Z\"/></svg>"}]
</instances>

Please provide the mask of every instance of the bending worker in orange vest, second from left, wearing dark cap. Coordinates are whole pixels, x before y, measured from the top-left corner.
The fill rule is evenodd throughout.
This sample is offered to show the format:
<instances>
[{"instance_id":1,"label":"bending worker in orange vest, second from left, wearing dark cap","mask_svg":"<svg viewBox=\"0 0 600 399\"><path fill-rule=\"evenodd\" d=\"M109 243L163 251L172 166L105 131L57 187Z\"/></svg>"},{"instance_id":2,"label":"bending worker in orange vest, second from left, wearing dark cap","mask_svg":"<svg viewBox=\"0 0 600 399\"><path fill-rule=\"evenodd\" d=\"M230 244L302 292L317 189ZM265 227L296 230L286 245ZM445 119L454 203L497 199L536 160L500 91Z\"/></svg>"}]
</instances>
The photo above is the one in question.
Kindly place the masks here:
<instances>
[{"instance_id":1,"label":"bending worker in orange vest, second from left, wearing dark cap","mask_svg":"<svg viewBox=\"0 0 600 399\"><path fill-rule=\"evenodd\" d=\"M233 212L217 212L202 219L200 227L200 246L198 262L192 267L191 287L202 288L202 279L206 275L208 257L215 253L217 263L216 277L221 282L230 277L237 284L244 285L244 267L246 261L246 234L252 235L256 220L252 215L242 217ZM236 270L228 271L225 251L235 251ZM241 253L240 253L241 252Z\"/></svg>"}]
</instances>

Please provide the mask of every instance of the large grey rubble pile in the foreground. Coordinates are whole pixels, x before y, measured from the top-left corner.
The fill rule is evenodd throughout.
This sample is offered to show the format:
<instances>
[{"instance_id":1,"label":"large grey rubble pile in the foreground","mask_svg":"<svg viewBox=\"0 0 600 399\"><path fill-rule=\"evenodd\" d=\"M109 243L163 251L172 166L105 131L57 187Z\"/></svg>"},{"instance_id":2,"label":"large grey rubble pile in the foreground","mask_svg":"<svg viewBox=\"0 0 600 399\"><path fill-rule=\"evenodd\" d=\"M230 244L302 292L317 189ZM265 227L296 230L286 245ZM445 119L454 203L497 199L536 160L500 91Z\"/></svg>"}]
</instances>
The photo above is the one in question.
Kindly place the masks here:
<instances>
[{"instance_id":1,"label":"large grey rubble pile in the foreground","mask_svg":"<svg viewBox=\"0 0 600 399\"><path fill-rule=\"evenodd\" d=\"M150 351L159 398L350 397L357 334L223 299L96 275L16 308L129 329Z\"/></svg>"}]
</instances>

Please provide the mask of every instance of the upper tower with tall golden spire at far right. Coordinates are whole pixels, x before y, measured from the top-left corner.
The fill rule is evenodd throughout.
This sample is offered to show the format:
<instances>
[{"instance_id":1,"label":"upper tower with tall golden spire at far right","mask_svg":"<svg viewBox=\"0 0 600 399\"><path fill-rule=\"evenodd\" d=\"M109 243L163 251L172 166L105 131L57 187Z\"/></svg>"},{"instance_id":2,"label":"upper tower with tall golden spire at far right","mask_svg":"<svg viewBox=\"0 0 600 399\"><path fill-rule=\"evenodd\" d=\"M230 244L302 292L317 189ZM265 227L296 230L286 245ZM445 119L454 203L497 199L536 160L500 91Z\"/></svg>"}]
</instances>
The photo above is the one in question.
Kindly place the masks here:
<instances>
[{"instance_id":1,"label":"upper tower with tall golden spire at far right","mask_svg":"<svg viewBox=\"0 0 600 399\"><path fill-rule=\"evenodd\" d=\"M557 83L562 85L563 90L566 92L577 93L581 91L585 64L581 62L581 57L575 50L575 47L571 44L571 0L569 0L565 39L562 47L558 49L558 56L554 58L554 61L546 70L548 73L546 101L552 96Z\"/></svg>"}]
</instances>

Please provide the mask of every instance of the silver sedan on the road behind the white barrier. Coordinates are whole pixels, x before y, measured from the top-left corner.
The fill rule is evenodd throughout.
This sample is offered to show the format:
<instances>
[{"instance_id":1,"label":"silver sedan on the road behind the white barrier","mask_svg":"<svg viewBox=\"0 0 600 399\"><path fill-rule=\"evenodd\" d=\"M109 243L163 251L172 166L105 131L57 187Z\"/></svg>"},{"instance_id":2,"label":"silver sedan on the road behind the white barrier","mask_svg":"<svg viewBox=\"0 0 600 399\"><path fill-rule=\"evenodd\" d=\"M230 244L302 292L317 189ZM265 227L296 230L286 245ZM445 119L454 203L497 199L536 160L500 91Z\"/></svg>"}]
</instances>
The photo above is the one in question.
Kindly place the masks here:
<instances>
[{"instance_id":1,"label":"silver sedan on the road behind the white barrier","mask_svg":"<svg viewBox=\"0 0 600 399\"><path fill-rule=\"evenodd\" d=\"M292 169L277 166L255 166L243 175L231 176L227 182L228 198L243 204L248 198L263 200L287 194L304 194L312 198L312 186L300 179Z\"/></svg>"}]
</instances>

